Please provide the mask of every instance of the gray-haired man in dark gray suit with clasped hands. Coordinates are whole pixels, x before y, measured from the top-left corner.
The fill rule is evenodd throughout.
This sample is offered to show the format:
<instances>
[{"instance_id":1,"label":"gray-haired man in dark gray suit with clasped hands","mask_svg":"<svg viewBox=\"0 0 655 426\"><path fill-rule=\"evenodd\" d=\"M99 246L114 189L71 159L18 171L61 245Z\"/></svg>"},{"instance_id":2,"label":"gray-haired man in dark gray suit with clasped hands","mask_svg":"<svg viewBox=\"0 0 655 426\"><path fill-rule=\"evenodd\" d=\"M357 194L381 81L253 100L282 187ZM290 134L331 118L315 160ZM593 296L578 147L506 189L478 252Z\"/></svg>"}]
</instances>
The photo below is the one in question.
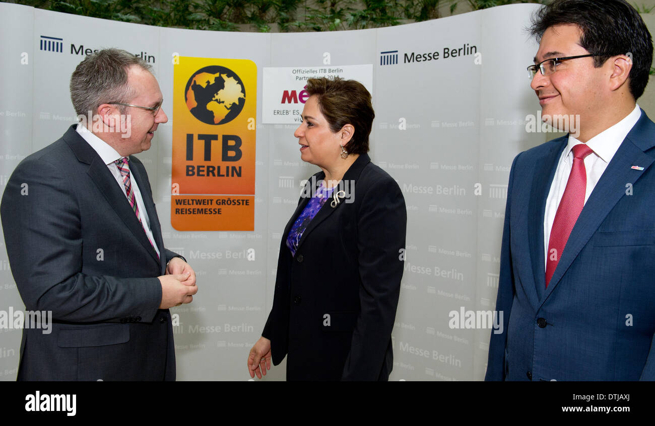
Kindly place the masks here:
<instances>
[{"instance_id":1,"label":"gray-haired man in dark gray suit with clasped hands","mask_svg":"<svg viewBox=\"0 0 655 426\"><path fill-rule=\"evenodd\" d=\"M164 248L145 168L162 93L143 59L107 49L71 77L81 123L13 172L0 206L26 310L18 380L175 380L168 308L190 303L195 272Z\"/></svg>"}]
</instances>

